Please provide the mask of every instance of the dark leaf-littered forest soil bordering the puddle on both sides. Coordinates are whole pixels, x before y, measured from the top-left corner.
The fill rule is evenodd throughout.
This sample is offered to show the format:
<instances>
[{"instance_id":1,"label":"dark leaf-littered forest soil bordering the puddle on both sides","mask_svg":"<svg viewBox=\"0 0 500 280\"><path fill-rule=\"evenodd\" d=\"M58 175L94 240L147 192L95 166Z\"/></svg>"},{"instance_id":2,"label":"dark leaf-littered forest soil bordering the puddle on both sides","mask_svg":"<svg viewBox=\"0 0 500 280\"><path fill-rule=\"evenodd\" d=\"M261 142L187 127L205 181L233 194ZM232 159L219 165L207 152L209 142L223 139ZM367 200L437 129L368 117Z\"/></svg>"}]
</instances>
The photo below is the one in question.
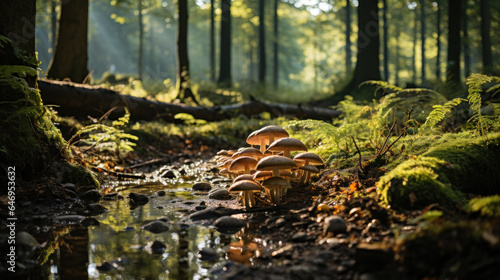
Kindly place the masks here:
<instances>
[{"instance_id":1,"label":"dark leaf-littered forest soil bordering the puddle on both sides","mask_svg":"<svg viewBox=\"0 0 500 280\"><path fill-rule=\"evenodd\" d=\"M170 140L171 144L177 144L172 144L168 153L161 154L163 162L209 162L218 150L189 139ZM139 145L142 152L121 159L122 165L140 165L158 159L151 156L158 155L155 144ZM100 166L106 166L104 169L120 161L95 156L102 159L104 165ZM161 162L152 168L154 166L161 166ZM207 172L213 173L213 168ZM384 168L365 169L363 176L357 168L324 168L310 184L292 188L281 207L245 214L252 234L238 233L240 249L228 253L227 261L213 267L212 277L238 280L498 279L498 218L484 218L439 204L415 210L381 206L375 182L385 173ZM119 173L137 174L140 170L144 169L125 169ZM24 218L17 230L30 232L37 240L49 240L54 229L60 229L60 226L53 227L50 217L83 212L87 204L100 197L93 196L92 186L62 185L57 172L52 174L52 177L32 181L29 188L23 188L18 194L20 207L16 214ZM107 175L111 175L108 178L120 176L116 172ZM83 199L75 201L75 195ZM231 208L241 209L234 198ZM320 210L318 205L323 203L328 208ZM258 205L270 206L264 198L258 198ZM190 212L196 212L194 206ZM335 229L328 229L326 218L332 215L340 217L341 222Z\"/></svg>"}]
</instances>

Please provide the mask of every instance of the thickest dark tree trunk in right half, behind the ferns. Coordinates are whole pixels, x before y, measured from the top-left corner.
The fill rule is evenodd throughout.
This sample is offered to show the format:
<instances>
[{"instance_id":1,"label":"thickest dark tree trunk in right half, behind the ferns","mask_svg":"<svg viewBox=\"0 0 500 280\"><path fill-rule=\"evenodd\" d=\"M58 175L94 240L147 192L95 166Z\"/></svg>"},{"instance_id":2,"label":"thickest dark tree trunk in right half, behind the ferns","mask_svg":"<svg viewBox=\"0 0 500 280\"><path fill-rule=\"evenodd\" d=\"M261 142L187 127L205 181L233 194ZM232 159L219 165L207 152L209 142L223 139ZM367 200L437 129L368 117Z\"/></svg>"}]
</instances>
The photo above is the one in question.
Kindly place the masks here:
<instances>
[{"instance_id":1,"label":"thickest dark tree trunk in right half, behind the ferns","mask_svg":"<svg viewBox=\"0 0 500 280\"><path fill-rule=\"evenodd\" d=\"M368 80L380 80L380 34L378 1L360 1L358 6L358 54L353 88Z\"/></svg>"}]
</instances>

